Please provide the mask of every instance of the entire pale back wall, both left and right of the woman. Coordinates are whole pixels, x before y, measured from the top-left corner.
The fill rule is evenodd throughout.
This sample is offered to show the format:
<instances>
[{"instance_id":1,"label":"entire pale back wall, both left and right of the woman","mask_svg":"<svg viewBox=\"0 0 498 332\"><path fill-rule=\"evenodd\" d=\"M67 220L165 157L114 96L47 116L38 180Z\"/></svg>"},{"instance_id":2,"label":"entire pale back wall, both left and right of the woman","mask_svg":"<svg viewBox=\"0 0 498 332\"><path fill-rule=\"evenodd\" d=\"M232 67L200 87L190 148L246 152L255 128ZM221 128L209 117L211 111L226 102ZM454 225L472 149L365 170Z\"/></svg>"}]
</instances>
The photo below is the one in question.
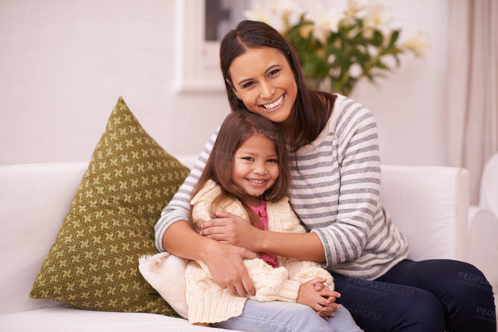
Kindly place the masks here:
<instances>
[{"instance_id":1,"label":"entire pale back wall, both left and right of the woman","mask_svg":"<svg viewBox=\"0 0 498 332\"><path fill-rule=\"evenodd\" d=\"M163 14L177 15L174 1L0 1L0 163L3 161L13 165L89 160L120 95L128 102L142 100L145 104L152 103L164 109L156 116L144 113L147 111L144 107L133 105L136 101L128 103L144 129L166 151L172 154L195 154L201 151L229 112L226 95L177 94L173 90L175 59L182 55L170 53L173 56L170 57L167 54L145 52L136 48L138 43L135 40L143 38L164 43L166 48L174 48L178 45L175 39L177 29L185 23L175 22L178 20L175 17L171 20L155 18L156 21L151 22L122 15L116 12L120 9L117 4L121 2L140 5L142 11L149 8ZM336 3L344 5L345 1ZM386 10L388 6L396 6L413 13L448 19L447 1L386 0L383 3ZM12 7L17 9L13 10ZM11 13L11 10L20 14ZM125 14L131 13L123 11ZM62 18L62 25L45 22L44 26L40 26L24 21L29 20L27 16L33 16L34 12ZM392 14L393 9L389 13ZM144 14L138 16L147 17ZM32 21L42 22L40 19ZM67 26L69 21L70 26ZM434 23L420 26L398 19L393 20L393 23L403 28L400 40L415 35L417 29L421 29L428 33L431 47L447 49L450 27ZM28 46L11 46L8 41L12 40L24 46L27 42ZM390 111L390 107L395 100L415 104L417 108L444 112L448 61L457 60L417 59L412 55L401 57L398 75L401 71L407 71L428 76L438 80L437 87L418 81L407 85L383 79L377 79L377 86L369 82L358 84L351 97L373 112L378 127L383 130L379 132L379 137L384 160L411 165L445 164L442 128L444 121L448 120L435 116L429 120L415 118ZM160 82L147 77L136 81L104 73L103 64L106 62L125 66L127 70L133 67L138 71L167 76L167 81ZM54 82L50 79L57 80L57 84L13 82L10 80L16 78L13 73L4 74L11 70L21 76L44 76L49 79L49 83ZM124 70L120 72L124 73ZM7 100L14 100L19 103L17 106L22 105L23 108L7 106ZM168 114L169 108L179 110L177 112L184 116ZM89 129L97 129L98 132ZM423 139L424 143L402 139L398 139L397 143L388 142L385 139L397 134L388 133L387 130L399 132L404 137L415 136L416 140L420 142ZM20 134L27 141L22 138L12 139L9 132L17 137ZM40 139L41 144L35 143Z\"/></svg>"}]
</instances>

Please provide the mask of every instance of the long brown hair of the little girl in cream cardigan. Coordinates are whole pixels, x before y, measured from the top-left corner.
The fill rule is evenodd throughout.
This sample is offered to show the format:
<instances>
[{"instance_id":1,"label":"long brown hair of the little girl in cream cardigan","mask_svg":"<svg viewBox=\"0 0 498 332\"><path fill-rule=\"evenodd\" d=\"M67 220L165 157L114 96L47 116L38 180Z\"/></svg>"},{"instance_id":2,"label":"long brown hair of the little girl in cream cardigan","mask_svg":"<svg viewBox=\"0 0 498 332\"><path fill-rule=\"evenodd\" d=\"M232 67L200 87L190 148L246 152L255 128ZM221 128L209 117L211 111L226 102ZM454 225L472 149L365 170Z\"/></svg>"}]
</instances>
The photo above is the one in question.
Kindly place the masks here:
<instances>
[{"instance_id":1,"label":"long brown hair of the little girl in cream cardigan","mask_svg":"<svg viewBox=\"0 0 498 332\"><path fill-rule=\"evenodd\" d=\"M226 204L235 198L241 201L244 210L249 215L250 224L261 228L259 217L247 204L243 203L248 199L244 189L232 181L235 153L253 135L269 138L277 151L279 175L273 186L263 193L263 199L276 203L289 194L291 178L288 152L281 129L271 120L250 111L232 112L223 121L206 162L206 167L204 167L204 171L190 196L191 198L195 197L209 179L221 187L221 194L213 199L211 207L208 209L212 219L217 218L216 211L222 212ZM189 223L197 232L200 231L192 219L192 205L190 206Z\"/></svg>"}]
</instances>

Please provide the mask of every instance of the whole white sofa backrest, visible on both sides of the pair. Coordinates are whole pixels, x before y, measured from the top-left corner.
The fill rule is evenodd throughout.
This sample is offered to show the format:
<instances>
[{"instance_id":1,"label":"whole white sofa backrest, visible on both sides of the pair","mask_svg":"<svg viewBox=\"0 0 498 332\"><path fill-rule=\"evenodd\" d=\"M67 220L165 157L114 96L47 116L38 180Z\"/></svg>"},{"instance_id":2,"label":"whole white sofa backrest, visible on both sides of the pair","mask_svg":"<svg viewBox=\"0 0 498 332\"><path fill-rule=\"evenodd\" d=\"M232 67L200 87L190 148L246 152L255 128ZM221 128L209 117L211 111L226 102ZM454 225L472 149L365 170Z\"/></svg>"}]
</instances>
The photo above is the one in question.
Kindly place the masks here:
<instances>
[{"instance_id":1,"label":"whole white sofa backrest, visible on both sides of the pair","mask_svg":"<svg viewBox=\"0 0 498 332\"><path fill-rule=\"evenodd\" d=\"M177 158L190 168L196 160ZM0 314L58 306L30 299L29 292L87 167L68 162L0 168ZM441 180L431 172L442 174ZM467 227L468 172L424 167L422 173L412 179L383 167L381 204L405 232L409 258L459 259L457 243L466 245L459 216L465 210Z\"/></svg>"}]
</instances>

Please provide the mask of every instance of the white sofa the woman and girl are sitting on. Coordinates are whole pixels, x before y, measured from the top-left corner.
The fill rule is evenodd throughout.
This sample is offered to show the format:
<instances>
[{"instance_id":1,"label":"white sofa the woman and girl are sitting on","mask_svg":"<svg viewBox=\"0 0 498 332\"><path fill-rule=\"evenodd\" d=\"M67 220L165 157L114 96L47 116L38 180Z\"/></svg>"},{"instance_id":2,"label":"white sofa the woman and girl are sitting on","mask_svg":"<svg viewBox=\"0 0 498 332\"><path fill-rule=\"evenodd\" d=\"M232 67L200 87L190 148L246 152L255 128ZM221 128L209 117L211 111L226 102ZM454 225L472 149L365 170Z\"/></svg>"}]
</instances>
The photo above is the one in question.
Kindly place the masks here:
<instances>
[{"instance_id":1,"label":"white sofa the woman and girl are sitting on","mask_svg":"<svg viewBox=\"0 0 498 332\"><path fill-rule=\"evenodd\" d=\"M190 168L197 159L177 158ZM212 330L161 315L86 311L29 298L87 167L88 162L67 162L0 168L0 330ZM408 238L409 258L468 260L467 170L385 164L381 189L382 205Z\"/></svg>"}]
</instances>

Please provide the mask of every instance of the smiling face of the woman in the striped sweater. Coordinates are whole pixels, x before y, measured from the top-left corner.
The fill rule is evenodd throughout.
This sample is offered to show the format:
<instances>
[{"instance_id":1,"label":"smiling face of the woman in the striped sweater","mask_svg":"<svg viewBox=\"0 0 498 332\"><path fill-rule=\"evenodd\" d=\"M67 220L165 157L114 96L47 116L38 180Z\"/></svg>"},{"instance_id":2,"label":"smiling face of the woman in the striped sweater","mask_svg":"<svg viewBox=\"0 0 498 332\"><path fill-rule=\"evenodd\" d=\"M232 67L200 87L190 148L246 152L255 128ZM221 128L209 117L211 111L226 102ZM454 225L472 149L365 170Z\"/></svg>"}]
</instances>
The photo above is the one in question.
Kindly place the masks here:
<instances>
[{"instance_id":1,"label":"smiling face of the woman in the striped sweater","mask_svg":"<svg viewBox=\"0 0 498 332\"><path fill-rule=\"evenodd\" d=\"M251 48L230 65L235 94L249 111L273 122L289 118L297 96L294 74L275 48Z\"/></svg>"}]
</instances>

